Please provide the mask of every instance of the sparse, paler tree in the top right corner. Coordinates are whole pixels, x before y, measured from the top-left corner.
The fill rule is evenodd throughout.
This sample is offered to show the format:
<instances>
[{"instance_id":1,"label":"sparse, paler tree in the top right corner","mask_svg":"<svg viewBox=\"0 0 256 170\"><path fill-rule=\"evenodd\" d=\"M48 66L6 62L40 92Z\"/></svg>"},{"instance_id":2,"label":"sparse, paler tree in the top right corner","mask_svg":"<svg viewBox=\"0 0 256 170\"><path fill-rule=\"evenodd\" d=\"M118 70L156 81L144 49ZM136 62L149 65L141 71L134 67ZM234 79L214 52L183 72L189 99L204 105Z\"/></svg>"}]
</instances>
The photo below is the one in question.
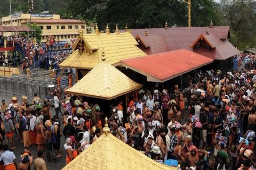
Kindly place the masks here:
<instances>
[{"instance_id":1,"label":"sparse, paler tree in the top right corner","mask_svg":"<svg viewBox=\"0 0 256 170\"><path fill-rule=\"evenodd\" d=\"M231 43L240 50L256 45L256 4L253 0L222 0L230 25Z\"/></svg>"}]
</instances>

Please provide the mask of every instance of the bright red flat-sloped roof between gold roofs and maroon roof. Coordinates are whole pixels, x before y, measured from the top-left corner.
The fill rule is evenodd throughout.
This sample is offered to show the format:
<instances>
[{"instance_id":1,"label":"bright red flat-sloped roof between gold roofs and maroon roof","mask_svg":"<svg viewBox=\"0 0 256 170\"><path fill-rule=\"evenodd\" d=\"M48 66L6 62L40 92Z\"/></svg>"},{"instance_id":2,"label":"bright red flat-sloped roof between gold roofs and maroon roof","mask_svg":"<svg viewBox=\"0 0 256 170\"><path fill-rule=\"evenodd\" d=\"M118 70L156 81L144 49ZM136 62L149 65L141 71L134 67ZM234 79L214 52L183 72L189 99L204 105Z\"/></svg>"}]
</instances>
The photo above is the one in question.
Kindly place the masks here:
<instances>
[{"instance_id":1,"label":"bright red flat-sloped roof between gold roofs and maroon roof","mask_svg":"<svg viewBox=\"0 0 256 170\"><path fill-rule=\"evenodd\" d=\"M211 62L213 59L180 49L122 60L121 65L147 76L147 81L164 82Z\"/></svg>"}]
</instances>

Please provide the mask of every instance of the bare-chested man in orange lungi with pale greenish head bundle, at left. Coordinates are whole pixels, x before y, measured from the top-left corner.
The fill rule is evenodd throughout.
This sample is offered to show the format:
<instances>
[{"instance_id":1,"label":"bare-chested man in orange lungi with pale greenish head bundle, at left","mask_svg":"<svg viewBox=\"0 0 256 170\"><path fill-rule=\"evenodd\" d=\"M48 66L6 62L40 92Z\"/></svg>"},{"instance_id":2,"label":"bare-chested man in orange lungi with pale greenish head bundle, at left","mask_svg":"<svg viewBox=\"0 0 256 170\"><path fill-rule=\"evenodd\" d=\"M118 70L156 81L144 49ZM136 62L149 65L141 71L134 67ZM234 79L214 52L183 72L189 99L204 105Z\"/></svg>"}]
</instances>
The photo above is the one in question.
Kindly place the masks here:
<instances>
[{"instance_id":1,"label":"bare-chested man in orange lungi with pale greenish head bundle, at left","mask_svg":"<svg viewBox=\"0 0 256 170\"><path fill-rule=\"evenodd\" d=\"M44 145L45 145L45 129L43 126L43 116L40 115L37 119L36 119L36 143L37 143L37 150L44 150Z\"/></svg>"}]
</instances>

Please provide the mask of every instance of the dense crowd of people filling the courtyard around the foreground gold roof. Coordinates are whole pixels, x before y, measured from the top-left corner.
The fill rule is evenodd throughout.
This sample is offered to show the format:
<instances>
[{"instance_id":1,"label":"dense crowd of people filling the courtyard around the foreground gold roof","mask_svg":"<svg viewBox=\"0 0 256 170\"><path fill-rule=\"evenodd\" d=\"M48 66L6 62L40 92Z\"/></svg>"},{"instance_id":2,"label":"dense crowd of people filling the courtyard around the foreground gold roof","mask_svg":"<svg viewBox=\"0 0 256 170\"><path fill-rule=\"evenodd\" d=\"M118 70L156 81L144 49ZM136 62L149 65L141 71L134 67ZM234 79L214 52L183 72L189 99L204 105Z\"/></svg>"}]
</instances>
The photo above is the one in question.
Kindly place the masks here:
<instances>
[{"instance_id":1,"label":"dense crowd of people filling the courtyard around the foreground gold roof","mask_svg":"<svg viewBox=\"0 0 256 170\"><path fill-rule=\"evenodd\" d=\"M34 167L45 166L44 154L48 161L59 159L61 146L68 164L100 137L106 116L112 135L159 163L181 170L256 169L256 70L209 70L200 74L189 99L178 85L173 93L140 89L130 93L127 107L120 101L106 113L101 104L82 96L65 94L61 100L56 88L54 116L48 97L41 100L35 94L30 103L22 96L21 104L17 97L3 100L0 169L30 167L33 157L27 148L33 146L40 158ZM14 134L26 148L19 165L12 152Z\"/></svg>"}]
</instances>

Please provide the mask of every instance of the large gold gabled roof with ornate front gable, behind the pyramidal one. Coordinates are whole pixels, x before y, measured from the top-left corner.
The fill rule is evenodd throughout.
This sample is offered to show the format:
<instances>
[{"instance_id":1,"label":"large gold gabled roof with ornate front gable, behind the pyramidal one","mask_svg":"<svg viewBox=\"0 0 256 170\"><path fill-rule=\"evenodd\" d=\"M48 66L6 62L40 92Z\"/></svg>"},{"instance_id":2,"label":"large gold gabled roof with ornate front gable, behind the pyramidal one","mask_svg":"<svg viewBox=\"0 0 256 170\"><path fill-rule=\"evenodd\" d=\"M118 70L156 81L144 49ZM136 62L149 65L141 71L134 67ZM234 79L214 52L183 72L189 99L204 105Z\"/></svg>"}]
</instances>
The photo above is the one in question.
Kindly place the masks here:
<instances>
[{"instance_id":1,"label":"large gold gabled roof with ornate front gable, behind the pyramidal one","mask_svg":"<svg viewBox=\"0 0 256 170\"><path fill-rule=\"evenodd\" d=\"M101 62L103 48L106 62L117 66L120 60L147 55L136 45L138 42L128 32L80 35L73 46L74 52L60 66L93 69Z\"/></svg>"}]
</instances>

